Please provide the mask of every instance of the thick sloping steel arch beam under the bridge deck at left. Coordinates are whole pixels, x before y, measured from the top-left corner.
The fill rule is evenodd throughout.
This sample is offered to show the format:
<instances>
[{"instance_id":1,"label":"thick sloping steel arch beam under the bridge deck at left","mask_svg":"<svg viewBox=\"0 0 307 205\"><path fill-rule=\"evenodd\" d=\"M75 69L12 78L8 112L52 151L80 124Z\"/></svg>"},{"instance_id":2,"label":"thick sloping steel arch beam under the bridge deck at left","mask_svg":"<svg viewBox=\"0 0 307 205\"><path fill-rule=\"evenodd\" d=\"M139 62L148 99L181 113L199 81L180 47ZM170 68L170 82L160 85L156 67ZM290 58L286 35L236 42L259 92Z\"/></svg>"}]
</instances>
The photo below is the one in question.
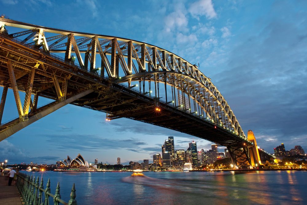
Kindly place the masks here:
<instances>
[{"instance_id":1,"label":"thick sloping steel arch beam under the bridge deck at left","mask_svg":"<svg viewBox=\"0 0 307 205\"><path fill-rule=\"evenodd\" d=\"M61 102L52 102L48 105L45 105L42 108L39 108L40 111L39 112L35 112L35 113L29 113L30 117L29 120L25 120L25 121L19 121L17 123L9 122L7 124L9 124L8 126L2 125L0 127L0 141L5 140L6 138L8 138L9 136L13 135L14 133L18 132L19 130L21 130L22 128L25 128L26 126L32 124L33 122L36 122L37 120L45 117L46 115L56 111L57 109L60 109L61 107L63 107L64 105L67 105L69 103L72 103L73 101L76 101L77 99L86 96L89 93L94 92L94 89L88 89L86 91L83 91L81 93L78 93L64 101ZM31 115L33 114L33 115ZM11 124L11 125L10 125Z\"/></svg>"}]
</instances>

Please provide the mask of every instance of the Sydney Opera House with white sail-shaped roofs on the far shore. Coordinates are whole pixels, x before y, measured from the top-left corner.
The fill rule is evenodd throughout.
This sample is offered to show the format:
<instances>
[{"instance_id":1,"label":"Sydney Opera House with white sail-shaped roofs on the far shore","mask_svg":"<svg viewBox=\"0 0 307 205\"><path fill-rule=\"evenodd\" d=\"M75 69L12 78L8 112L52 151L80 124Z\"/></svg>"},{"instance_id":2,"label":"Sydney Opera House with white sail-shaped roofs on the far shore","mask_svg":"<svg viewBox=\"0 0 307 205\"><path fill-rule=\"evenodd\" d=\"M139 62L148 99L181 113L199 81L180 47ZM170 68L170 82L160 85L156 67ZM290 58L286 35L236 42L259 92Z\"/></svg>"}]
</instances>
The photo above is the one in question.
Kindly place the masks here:
<instances>
[{"instance_id":1,"label":"Sydney Opera House with white sail-shaped roofs on the far shore","mask_svg":"<svg viewBox=\"0 0 307 205\"><path fill-rule=\"evenodd\" d=\"M97 165L88 164L88 162L84 160L83 156L78 154L75 159L67 156L67 159L60 161L56 171L69 171L72 169L75 171L93 171L93 169L97 169Z\"/></svg>"}]
</instances>

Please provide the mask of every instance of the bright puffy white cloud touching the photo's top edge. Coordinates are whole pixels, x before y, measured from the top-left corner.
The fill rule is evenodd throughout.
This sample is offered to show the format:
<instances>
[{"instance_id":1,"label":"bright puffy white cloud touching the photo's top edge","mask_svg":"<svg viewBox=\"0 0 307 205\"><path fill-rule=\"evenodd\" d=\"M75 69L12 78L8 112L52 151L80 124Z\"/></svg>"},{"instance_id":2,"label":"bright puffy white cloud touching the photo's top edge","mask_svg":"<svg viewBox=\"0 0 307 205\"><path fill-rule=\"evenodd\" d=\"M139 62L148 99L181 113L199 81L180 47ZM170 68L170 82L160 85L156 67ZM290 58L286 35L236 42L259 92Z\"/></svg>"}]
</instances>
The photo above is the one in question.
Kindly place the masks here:
<instances>
[{"instance_id":1,"label":"bright puffy white cloud touching the photo's top edge","mask_svg":"<svg viewBox=\"0 0 307 205\"><path fill-rule=\"evenodd\" d=\"M199 16L206 16L208 19L216 17L211 0L200 0L191 4L188 9L192 17L199 19Z\"/></svg>"}]
</instances>

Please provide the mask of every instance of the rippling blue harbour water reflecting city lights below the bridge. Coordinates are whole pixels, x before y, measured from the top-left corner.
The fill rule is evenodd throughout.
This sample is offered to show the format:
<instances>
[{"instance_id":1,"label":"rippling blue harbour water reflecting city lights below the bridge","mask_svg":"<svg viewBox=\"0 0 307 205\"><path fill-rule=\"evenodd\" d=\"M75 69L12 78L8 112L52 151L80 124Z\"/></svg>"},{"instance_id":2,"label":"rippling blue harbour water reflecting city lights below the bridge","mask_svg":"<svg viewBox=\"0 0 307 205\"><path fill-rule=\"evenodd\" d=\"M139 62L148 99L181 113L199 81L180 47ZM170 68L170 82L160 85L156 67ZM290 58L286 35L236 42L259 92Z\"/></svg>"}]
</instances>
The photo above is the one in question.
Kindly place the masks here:
<instances>
[{"instance_id":1,"label":"rippling blue harbour water reflecting city lights below the bridge","mask_svg":"<svg viewBox=\"0 0 307 205\"><path fill-rule=\"evenodd\" d=\"M43 176L51 192L60 182L78 204L307 204L307 171L251 172L27 172Z\"/></svg>"}]
</instances>

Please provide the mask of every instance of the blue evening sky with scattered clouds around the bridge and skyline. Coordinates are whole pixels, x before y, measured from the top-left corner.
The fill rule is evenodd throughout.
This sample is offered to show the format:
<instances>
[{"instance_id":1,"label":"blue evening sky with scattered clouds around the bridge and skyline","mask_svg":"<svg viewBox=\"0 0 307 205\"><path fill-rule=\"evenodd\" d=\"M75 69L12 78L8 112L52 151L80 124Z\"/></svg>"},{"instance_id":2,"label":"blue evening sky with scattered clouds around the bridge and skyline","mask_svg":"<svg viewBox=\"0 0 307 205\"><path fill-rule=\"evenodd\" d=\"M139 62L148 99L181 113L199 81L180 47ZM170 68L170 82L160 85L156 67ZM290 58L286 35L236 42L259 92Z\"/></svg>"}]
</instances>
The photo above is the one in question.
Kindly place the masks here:
<instances>
[{"instance_id":1,"label":"blue evening sky with scattered clouds around the bridge and skyline","mask_svg":"<svg viewBox=\"0 0 307 205\"><path fill-rule=\"evenodd\" d=\"M144 41L169 50L212 79L247 134L273 152L284 143L307 149L307 2L2 0L9 18L65 30ZM2 88L0 89L2 92ZM42 99L39 103L49 102ZM16 117L10 90L2 122ZM81 153L89 162L115 163L161 152L167 136L176 149L211 142L68 105L0 142L0 160L55 163Z\"/></svg>"}]
</instances>

